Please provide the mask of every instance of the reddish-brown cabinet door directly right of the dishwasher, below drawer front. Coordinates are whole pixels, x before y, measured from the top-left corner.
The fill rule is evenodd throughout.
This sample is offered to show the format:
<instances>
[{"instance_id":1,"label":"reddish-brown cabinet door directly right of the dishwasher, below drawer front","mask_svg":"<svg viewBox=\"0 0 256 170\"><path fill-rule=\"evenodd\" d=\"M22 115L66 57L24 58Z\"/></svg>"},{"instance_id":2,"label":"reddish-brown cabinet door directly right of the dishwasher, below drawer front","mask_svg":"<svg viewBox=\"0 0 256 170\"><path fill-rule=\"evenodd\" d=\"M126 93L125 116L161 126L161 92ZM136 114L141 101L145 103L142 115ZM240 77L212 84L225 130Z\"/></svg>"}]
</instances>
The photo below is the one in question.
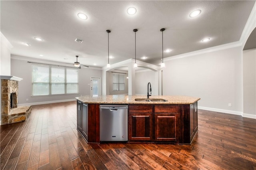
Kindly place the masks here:
<instances>
[{"instance_id":1,"label":"reddish-brown cabinet door directly right of the dishwasher, below drawer front","mask_svg":"<svg viewBox=\"0 0 256 170\"><path fill-rule=\"evenodd\" d=\"M152 140L152 113L129 113L129 140Z\"/></svg>"}]
</instances>

